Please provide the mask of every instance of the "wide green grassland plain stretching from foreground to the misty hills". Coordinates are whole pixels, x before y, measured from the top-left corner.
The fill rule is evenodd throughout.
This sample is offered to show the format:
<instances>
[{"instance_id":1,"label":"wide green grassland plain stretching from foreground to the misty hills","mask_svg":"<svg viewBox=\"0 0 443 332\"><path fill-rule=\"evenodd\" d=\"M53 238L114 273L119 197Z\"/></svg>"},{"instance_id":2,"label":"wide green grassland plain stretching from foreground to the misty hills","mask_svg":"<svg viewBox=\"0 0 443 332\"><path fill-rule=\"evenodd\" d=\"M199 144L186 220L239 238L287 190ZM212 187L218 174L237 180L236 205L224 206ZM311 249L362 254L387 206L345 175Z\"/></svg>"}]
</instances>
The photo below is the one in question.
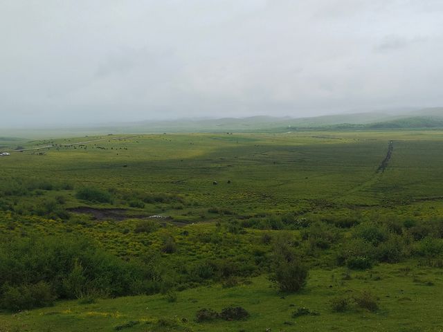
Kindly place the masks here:
<instances>
[{"instance_id":1,"label":"wide green grassland plain stretching from foreground to the misty hills","mask_svg":"<svg viewBox=\"0 0 443 332\"><path fill-rule=\"evenodd\" d=\"M0 261L12 264L10 252L23 248L63 252L58 239L85 240L98 250L91 256L143 266L134 291L60 291L53 306L3 306L0 331L443 329L443 131L127 134L0 145L11 151L0 157L0 237L19 243L0 246ZM309 266L298 293L269 280L280 237ZM79 259L86 266L91 256ZM357 266L362 260L368 265ZM1 280L13 284L12 270L3 267ZM38 281L24 277L26 285ZM362 292L377 310L356 306ZM335 312L336 297L349 308ZM250 316L195 321L200 308L226 306ZM319 315L291 316L302 307Z\"/></svg>"}]
</instances>

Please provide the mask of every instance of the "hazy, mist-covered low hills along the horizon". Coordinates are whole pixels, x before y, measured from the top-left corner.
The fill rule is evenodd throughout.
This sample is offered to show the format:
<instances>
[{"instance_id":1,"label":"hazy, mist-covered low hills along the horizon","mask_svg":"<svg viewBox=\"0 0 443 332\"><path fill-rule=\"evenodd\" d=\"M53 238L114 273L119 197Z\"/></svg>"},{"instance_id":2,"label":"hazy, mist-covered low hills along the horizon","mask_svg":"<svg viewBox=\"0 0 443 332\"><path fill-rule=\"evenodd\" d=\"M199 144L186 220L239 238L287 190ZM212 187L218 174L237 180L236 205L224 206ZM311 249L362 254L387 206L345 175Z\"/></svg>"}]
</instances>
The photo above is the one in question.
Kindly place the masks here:
<instances>
[{"instance_id":1,"label":"hazy, mist-covered low hills along the horizon","mask_svg":"<svg viewBox=\"0 0 443 332\"><path fill-rule=\"evenodd\" d=\"M3 136L25 138L101 135L105 133L284 132L337 129L443 129L443 107L405 111L374 111L311 118L252 116L248 118L197 118L104 124L89 127L2 129ZM5 141L6 138L3 138Z\"/></svg>"}]
</instances>

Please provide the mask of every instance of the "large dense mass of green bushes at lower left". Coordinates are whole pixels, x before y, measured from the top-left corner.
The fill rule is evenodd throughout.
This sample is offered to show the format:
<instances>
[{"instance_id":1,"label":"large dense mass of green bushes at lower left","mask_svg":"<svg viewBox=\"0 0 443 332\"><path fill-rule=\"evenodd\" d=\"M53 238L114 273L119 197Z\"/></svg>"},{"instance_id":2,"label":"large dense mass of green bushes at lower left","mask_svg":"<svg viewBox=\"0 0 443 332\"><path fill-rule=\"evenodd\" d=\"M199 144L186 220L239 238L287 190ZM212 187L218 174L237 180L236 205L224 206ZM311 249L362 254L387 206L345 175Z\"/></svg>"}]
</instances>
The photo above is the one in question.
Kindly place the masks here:
<instances>
[{"instance_id":1,"label":"large dense mass of green bushes at lower left","mask_svg":"<svg viewBox=\"0 0 443 332\"><path fill-rule=\"evenodd\" d=\"M56 298L136 292L143 269L75 237L3 238L0 243L0 304L21 310Z\"/></svg>"}]
</instances>

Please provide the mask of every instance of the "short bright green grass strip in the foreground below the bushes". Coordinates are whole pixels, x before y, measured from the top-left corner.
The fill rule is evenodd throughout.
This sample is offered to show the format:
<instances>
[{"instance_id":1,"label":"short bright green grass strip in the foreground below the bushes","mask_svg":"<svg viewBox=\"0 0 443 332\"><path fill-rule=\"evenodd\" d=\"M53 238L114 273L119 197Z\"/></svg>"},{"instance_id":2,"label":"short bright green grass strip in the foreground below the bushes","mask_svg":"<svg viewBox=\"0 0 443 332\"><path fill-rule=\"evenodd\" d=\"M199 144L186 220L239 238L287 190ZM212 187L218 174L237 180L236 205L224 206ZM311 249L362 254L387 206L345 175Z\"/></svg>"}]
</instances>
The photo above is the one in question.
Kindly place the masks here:
<instances>
[{"instance_id":1,"label":"short bright green grass strip in the foreground below the bushes","mask_svg":"<svg viewBox=\"0 0 443 332\"><path fill-rule=\"evenodd\" d=\"M0 331L442 331L443 271L408 264L381 264L370 271L343 269L311 271L302 293L278 293L266 277L233 288L219 285L178 293L176 302L165 295L102 299L93 304L57 302L51 308L0 314ZM336 296L371 291L379 310L351 307L334 313ZM239 322L197 323L199 308L220 311L242 306L251 313ZM320 315L292 318L300 307Z\"/></svg>"}]
</instances>

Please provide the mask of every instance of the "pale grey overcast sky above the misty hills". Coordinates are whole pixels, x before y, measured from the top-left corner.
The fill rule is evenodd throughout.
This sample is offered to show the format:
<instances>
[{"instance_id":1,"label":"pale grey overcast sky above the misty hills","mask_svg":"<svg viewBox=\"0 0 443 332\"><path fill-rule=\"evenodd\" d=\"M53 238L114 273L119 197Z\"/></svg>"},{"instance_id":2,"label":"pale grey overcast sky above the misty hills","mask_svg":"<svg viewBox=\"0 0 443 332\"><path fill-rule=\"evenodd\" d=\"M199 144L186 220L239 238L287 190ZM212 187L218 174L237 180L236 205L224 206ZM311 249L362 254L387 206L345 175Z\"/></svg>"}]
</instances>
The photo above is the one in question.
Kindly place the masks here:
<instances>
[{"instance_id":1,"label":"pale grey overcast sky above the misty hills","mask_svg":"<svg viewBox=\"0 0 443 332\"><path fill-rule=\"evenodd\" d=\"M0 127L443 105L442 0L0 0Z\"/></svg>"}]
</instances>

